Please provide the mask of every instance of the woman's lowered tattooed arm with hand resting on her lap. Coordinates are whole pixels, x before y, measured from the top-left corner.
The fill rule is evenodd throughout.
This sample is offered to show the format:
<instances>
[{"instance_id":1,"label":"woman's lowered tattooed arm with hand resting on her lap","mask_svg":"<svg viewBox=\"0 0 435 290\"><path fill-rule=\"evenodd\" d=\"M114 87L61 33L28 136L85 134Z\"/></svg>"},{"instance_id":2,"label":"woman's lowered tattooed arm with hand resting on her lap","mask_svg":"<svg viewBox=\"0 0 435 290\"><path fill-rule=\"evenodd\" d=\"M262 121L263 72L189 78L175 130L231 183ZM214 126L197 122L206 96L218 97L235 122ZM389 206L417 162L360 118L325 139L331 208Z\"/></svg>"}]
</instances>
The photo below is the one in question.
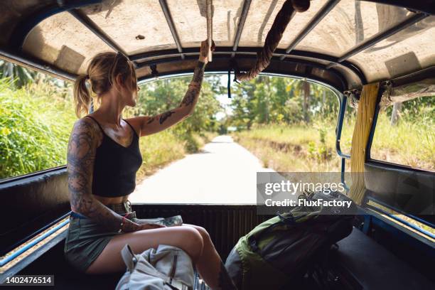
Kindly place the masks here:
<instances>
[{"instance_id":1,"label":"woman's lowered tattooed arm with hand resting on her lap","mask_svg":"<svg viewBox=\"0 0 435 290\"><path fill-rule=\"evenodd\" d=\"M122 216L114 213L92 196L92 174L99 130L87 118L78 120L68 142L67 171L71 209L103 225L107 230L119 230ZM122 230L133 232L140 226L124 220Z\"/></svg>"}]
</instances>

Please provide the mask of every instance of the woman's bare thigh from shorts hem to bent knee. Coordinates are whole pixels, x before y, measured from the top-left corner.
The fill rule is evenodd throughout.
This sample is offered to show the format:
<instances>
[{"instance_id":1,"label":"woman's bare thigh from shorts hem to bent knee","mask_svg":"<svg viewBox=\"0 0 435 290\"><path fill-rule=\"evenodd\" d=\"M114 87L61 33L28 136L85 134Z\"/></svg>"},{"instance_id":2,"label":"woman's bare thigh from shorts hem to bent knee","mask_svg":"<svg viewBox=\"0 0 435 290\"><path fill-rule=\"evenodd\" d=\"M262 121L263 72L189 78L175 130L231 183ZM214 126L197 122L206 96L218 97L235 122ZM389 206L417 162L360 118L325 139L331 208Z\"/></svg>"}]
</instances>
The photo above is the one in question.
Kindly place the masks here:
<instances>
[{"instance_id":1,"label":"woman's bare thigh from shorts hem to bent knee","mask_svg":"<svg viewBox=\"0 0 435 290\"><path fill-rule=\"evenodd\" d=\"M139 254L158 245L171 245L183 249L195 262L203 250L203 237L194 227L162 227L117 235L103 249L100 256L87 269L88 274L121 272L125 269L121 249L129 244Z\"/></svg>"}]
</instances>

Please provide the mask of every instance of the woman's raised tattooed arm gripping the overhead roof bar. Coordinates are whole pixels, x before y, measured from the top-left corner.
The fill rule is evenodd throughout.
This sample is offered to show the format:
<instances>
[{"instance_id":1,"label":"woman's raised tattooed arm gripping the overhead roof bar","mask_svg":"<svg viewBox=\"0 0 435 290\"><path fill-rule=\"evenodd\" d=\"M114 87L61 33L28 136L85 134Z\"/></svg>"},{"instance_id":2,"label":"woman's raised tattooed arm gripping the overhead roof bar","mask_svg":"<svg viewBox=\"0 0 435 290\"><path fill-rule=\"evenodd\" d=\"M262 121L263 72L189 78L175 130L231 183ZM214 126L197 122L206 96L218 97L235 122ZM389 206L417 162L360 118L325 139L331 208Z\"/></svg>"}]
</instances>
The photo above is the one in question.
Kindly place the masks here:
<instances>
[{"instance_id":1,"label":"woman's raised tattooed arm gripping the overhead roof bar","mask_svg":"<svg viewBox=\"0 0 435 290\"><path fill-rule=\"evenodd\" d=\"M192 114L200 95L205 65L208 63L207 55L208 43L207 41L203 41L201 43L200 58L193 72L192 81L178 107L156 116L142 116L129 119L129 122L131 122L134 127L140 128L141 134L139 136L146 136L162 131L186 119L186 117Z\"/></svg>"}]
</instances>

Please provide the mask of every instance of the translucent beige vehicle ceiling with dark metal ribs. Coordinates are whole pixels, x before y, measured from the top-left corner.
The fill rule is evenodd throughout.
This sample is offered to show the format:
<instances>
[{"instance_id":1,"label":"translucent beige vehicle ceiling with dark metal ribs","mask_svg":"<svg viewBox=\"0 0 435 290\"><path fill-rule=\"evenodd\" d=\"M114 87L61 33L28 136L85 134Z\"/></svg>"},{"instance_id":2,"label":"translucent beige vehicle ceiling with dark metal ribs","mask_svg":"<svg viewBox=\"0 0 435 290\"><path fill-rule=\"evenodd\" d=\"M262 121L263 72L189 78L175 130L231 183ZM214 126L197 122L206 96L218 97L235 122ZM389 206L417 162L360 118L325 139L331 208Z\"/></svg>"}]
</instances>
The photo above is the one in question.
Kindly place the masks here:
<instances>
[{"instance_id":1,"label":"translucent beige vehicle ceiling with dark metal ribs","mask_svg":"<svg viewBox=\"0 0 435 290\"><path fill-rule=\"evenodd\" d=\"M126 54L139 80L192 72L207 37L205 2L1 1L0 58L67 79L86 73L102 51ZM225 72L231 60L249 68L283 3L213 1L217 49L208 70ZM434 11L432 0L313 0L291 19L267 72L348 90L429 68L435 65Z\"/></svg>"}]
</instances>

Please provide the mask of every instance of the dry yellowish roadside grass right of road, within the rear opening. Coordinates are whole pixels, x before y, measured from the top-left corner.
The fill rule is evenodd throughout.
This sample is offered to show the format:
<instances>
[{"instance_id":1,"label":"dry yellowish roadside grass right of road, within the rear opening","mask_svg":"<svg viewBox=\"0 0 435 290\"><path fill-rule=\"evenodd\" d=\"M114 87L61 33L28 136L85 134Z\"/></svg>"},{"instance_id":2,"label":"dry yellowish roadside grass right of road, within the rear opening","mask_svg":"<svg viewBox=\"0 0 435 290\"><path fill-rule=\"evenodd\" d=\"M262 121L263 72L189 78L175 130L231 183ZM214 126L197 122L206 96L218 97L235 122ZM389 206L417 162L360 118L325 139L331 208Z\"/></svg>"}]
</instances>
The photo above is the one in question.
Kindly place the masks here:
<instances>
[{"instance_id":1,"label":"dry yellowish roadside grass right of road, within the rear opening","mask_svg":"<svg viewBox=\"0 0 435 290\"><path fill-rule=\"evenodd\" d=\"M321 138L322 135L322 138ZM233 134L263 162L284 172L339 172L331 124L267 125Z\"/></svg>"}]
</instances>

